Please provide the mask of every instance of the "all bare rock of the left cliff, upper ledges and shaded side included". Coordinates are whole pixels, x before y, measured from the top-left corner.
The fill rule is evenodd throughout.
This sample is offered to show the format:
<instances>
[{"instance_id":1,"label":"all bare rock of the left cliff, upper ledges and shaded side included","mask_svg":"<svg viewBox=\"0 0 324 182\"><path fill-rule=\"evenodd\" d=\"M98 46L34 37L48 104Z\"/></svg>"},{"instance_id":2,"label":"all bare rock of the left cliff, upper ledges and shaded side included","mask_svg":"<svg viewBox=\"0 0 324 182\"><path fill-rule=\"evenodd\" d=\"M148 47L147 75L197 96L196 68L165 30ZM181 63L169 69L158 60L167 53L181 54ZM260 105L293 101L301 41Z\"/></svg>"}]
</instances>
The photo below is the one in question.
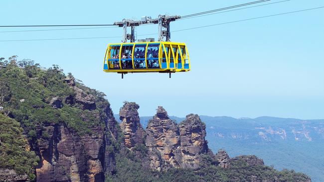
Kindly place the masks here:
<instances>
[{"instance_id":1,"label":"all bare rock of the left cliff, upper ledges and shaded side included","mask_svg":"<svg viewBox=\"0 0 324 182\"><path fill-rule=\"evenodd\" d=\"M81 104L92 119L104 123L88 128L90 134L80 135L62 123L47 123L37 130L37 146L41 162L36 168L37 182L104 182L105 172L114 170L114 154L107 150L117 136L116 121L109 105L97 109L95 96L74 86L74 79L67 80L75 94L65 98L65 104ZM71 84L72 83L72 84ZM55 104L56 106L59 104ZM54 106L53 106L54 107ZM88 115L80 115L89 121ZM46 133L46 138L41 137Z\"/></svg>"}]
</instances>

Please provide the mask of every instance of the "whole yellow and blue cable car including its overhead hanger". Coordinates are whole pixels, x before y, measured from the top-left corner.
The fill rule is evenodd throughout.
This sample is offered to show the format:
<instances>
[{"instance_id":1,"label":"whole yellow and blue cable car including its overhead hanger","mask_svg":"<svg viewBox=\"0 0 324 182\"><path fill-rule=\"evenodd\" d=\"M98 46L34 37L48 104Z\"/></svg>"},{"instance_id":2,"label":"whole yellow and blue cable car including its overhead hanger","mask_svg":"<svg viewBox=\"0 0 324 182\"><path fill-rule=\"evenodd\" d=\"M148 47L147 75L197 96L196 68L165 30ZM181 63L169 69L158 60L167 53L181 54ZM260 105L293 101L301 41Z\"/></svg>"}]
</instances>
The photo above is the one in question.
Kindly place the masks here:
<instances>
[{"instance_id":1,"label":"whole yellow and blue cable car including its overhead hanger","mask_svg":"<svg viewBox=\"0 0 324 182\"><path fill-rule=\"evenodd\" d=\"M124 27L122 43L108 44L104 58L104 72L127 73L171 73L190 71L190 59L185 43L170 41L170 21L180 16L159 15L158 19L142 17L141 21L124 19L115 25ZM140 39L135 42L134 26L159 23L159 39ZM127 34L127 27L132 28ZM165 30L163 30L165 28ZM163 40L165 37L165 41ZM131 42L127 42L130 39Z\"/></svg>"}]
</instances>

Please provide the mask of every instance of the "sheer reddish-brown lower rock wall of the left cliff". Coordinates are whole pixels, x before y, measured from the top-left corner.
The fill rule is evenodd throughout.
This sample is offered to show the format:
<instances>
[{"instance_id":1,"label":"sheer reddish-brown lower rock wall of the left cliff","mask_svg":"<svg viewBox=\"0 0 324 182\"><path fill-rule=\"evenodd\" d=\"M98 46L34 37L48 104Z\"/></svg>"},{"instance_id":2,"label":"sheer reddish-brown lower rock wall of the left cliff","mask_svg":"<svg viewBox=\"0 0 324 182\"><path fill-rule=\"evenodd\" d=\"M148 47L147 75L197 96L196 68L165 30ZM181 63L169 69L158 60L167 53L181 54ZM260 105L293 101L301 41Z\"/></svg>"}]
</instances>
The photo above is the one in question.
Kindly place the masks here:
<instances>
[{"instance_id":1,"label":"sheer reddish-brown lower rock wall of the left cliff","mask_svg":"<svg viewBox=\"0 0 324 182\"><path fill-rule=\"evenodd\" d=\"M42 162L36 169L37 182L104 179L100 161L104 156L104 137L100 127L93 128L97 136L82 137L59 124L45 126L45 130L48 139L38 142Z\"/></svg>"}]
</instances>

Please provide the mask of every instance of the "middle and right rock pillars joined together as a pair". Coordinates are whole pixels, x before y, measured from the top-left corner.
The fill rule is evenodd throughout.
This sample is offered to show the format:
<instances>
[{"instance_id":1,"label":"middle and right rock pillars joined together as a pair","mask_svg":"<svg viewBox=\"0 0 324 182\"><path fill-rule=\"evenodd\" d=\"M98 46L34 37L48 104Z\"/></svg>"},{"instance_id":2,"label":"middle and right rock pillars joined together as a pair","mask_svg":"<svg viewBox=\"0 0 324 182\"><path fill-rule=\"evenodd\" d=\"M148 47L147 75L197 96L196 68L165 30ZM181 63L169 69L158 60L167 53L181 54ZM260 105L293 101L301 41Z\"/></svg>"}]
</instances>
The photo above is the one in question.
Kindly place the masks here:
<instances>
[{"instance_id":1,"label":"middle and right rock pillars joined together as a pair","mask_svg":"<svg viewBox=\"0 0 324 182\"><path fill-rule=\"evenodd\" d=\"M177 125L161 106L148 123L146 146L151 168L169 167L198 169L201 155L208 153L205 124L196 114L189 114Z\"/></svg>"}]
</instances>

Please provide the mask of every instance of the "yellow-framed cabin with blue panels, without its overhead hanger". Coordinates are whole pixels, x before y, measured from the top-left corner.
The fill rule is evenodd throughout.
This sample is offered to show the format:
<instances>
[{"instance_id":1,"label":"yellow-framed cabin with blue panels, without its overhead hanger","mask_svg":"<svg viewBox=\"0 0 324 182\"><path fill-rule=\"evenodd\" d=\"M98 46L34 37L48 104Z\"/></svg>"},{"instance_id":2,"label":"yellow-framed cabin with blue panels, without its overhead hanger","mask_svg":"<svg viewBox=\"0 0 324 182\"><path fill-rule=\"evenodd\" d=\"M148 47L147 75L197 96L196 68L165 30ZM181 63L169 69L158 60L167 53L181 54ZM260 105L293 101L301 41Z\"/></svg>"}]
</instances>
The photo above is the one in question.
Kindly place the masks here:
<instances>
[{"instance_id":1,"label":"yellow-framed cabin with blue panels, without its overhead hanger","mask_svg":"<svg viewBox=\"0 0 324 182\"><path fill-rule=\"evenodd\" d=\"M190 71L188 50L184 43L137 42L108 44L105 72L175 73Z\"/></svg>"}]
</instances>

